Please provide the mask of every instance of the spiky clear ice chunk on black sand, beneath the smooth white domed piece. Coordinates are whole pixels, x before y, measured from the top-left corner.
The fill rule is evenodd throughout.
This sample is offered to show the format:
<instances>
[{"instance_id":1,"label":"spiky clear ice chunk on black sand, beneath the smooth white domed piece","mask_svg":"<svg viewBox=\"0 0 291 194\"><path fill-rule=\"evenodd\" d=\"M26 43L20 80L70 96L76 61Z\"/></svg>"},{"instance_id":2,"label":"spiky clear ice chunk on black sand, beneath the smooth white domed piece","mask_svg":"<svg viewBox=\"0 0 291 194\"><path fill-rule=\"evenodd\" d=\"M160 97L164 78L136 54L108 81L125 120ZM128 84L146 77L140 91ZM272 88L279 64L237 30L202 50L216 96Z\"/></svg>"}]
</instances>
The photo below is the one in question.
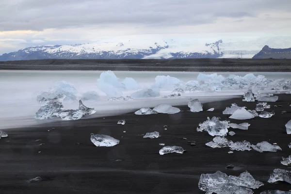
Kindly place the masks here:
<instances>
[{"instance_id":1,"label":"spiky clear ice chunk on black sand, beneath the smooth white domed piece","mask_svg":"<svg viewBox=\"0 0 291 194\"><path fill-rule=\"evenodd\" d=\"M207 117L208 120L203 123L199 123L197 131L207 131L211 136L226 136L228 132L229 121L220 121L219 118L213 116L211 119Z\"/></svg>"}]
</instances>

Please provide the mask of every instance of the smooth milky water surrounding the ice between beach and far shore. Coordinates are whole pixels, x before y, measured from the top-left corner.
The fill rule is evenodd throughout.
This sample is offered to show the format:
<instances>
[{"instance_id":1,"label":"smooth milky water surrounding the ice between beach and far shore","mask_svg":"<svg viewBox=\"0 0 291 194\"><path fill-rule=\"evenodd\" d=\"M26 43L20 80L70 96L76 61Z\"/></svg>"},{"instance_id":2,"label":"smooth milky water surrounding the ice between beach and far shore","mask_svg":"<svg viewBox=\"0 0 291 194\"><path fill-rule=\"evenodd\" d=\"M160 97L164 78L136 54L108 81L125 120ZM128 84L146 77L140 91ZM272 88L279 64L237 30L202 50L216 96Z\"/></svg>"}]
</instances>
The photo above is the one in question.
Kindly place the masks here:
<instances>
[{"instance_id":1,"label":"smooth milky water surrounding the ice between beach and far shore","mask_svg":"<svg viewBox=\"0 0 291 194\"><path fill-rule=\"evenodd\" d=\"M213 74L209 77L204 76L202 78L200 75L200 83L211 81L211 79L214 78L214 80L212 80L213 85L211 83L209 85L210 89L204 89L205 91L188 91L181 93L181 97L164 98L164 96L173 94L172 91L174 87L176 87L173 83L177 80L169 77L167 79L166 77L161 77L161 80L157 83L155 80L157 76L169 75L179 80L179 86L177 87L185 87L187 83L188 86L191 85L191 87L193 86L194 88L195 84L198 83L197 77L199 73L114 71L118 78L117 84L126 77L133 78L138 84L138 88L128 87L121 91L122 96L130 96L137 91L141 91L142 89L147 90L148 88L153 89L153 91L158 91L159 95L155 97L136 98L130 101L109 101L109 96L106 95L108 92L106 91L107 87L102 88L98 85L100 82L98 83L97 80L100 78L101 73L102 71L0 70L0 129L24 127L47 122L33 118L34 113L40 108L40 104L37 102L36 97L41 92L49 91L49 88L53 87L56 81L67 81L72 84L77 91L77 101L73 103L63 103L65 109L77 109L78 100L83 97L84 93L91 91L97 93L99 96L97 99L91 101L83 100L85 106L95 108L97 111L97 113L89 117L106 117L109 115L129 113L143 107L154 107L159 104L169 104L172 106L186 105L190 97L198 98L201 103L224 100L242 96L245 91L245 89L233 88L223 88L222 91L219 91L220 89L215 89L220 87L219 85L221 85L222 80L230 76L230 73L222 72L218 75ZM237 72L235 74L243 77L248 73ZM264 75L268 80L291 78L291 73L256 72L254 74L255 76ZM251 75L248 76L248 79L249 78L253 79ZM127 81L129 86L132 86L130 80ZM107 81L106 83L109 84L108 86L110 86L111 83L113 85L116 84L114 81ZM112 88L112 86L110 87Z\"/></svg>"}]
</instances>

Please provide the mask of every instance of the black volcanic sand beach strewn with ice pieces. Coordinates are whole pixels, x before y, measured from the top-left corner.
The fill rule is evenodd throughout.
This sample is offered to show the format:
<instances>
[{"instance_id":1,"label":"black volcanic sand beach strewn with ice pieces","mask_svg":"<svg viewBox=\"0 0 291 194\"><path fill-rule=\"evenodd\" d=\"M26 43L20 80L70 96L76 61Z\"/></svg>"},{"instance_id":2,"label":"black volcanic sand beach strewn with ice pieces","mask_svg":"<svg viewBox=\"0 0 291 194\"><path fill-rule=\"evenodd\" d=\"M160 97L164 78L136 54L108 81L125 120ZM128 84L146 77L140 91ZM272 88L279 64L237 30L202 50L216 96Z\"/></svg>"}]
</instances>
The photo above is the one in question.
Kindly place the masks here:
<instances>
[{"instance_id":1,"label":"black volcanic sand beach strewn with ice pieces","mask_svg":"<svg viewBox=\"0 0 291 194\"><path fill-rule=\"evenodd\" d=\"M270 184L267 180L275 168L291 170L280 164L282 156L291 154L288 148L291 136L285 129L291 119L291 95L280 95L277 102L269 103L271 109L266 110L275 111L271 118L228 119L251 124L248 130L229 129L236 133L227 136L229 140L277 143L282 151L275 153L251 150L228 154L229 148L205 146L213 137L207 132L197 132L198 124L207 116L226 119L229 115L223 115L222 111L234 102L248 109L255 109L257 103L236 98L204 104L204 110L214 107L213 112L191 113L183 106L181 113L172 115L129 113L7 129L9 137L0 139L0 194L203 194L198 189L202 173L222 171L238 176L245 170L265 184L254 190L255 194L275 189L289 191L291 184ZM283 107L274 107L275 104ZM281 111L287 113L281 114ZM117 125L120 119L125 119L126 124ZM167 130L163 130L164 125L168 126ZM55 129L51 130L52 127ZM161 137L144 139L140 135L155 130ZM111 135L120 144L96 147L90 141L90 133ZM188 145L188 141L195 141L196 146ZM187 152L159 155L162 148L159 143L182 146ZM235 165L234 169L226 169L229 164ZM28 182L38 176L44 180Z\"/></svg>"}]
</instances>

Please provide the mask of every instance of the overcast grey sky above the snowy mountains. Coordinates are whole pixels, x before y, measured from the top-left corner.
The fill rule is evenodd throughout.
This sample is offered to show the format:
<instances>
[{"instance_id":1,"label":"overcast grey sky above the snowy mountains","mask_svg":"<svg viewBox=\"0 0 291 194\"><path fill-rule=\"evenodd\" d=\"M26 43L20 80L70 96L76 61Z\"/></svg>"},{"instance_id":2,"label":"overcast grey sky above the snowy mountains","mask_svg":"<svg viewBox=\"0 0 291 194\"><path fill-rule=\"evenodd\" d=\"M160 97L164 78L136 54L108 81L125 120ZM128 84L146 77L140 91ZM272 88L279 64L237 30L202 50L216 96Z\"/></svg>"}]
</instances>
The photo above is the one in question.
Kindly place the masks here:
<instances>
[{"instance_id":1,"label":"overcast grey sky above the snowy mountains","mask_svg":"<svg viewBox=\"0 0 291 194\"><path fill-rule=\"evenodd\" d=\"M124 35L289 35L290 24L291 0L0 0L0 54Z\"/></svg>"}]
</instances>

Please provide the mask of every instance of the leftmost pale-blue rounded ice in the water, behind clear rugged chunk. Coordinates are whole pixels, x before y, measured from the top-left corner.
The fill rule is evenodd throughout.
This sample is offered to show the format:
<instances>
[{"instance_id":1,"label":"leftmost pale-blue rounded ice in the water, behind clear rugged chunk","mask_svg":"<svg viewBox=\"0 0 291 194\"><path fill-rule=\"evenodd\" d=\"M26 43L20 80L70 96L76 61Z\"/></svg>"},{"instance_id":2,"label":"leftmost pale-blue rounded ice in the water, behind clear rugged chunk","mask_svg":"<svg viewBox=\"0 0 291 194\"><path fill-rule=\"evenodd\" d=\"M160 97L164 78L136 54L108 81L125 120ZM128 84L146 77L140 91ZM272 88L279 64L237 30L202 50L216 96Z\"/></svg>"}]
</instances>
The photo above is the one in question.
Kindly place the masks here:
<instances>
[{"instance_id":1,"label":"leftmost pale-blue rounded ice in the water, behind clear rugged chunk","mask_svg":"<svg viewBox=\"0 0 291 194\"><path fill-rule=\"evenodd\" d=\"M45 99L53 99L65 95L64 101L74 102L77 100L77 94L77 90L71 83L67 81L57 81L54 86L49 89L49 92L41 92L41 94L36 97L36 100L38 102L43 102Z\"/></svg>"}]
</instances>

